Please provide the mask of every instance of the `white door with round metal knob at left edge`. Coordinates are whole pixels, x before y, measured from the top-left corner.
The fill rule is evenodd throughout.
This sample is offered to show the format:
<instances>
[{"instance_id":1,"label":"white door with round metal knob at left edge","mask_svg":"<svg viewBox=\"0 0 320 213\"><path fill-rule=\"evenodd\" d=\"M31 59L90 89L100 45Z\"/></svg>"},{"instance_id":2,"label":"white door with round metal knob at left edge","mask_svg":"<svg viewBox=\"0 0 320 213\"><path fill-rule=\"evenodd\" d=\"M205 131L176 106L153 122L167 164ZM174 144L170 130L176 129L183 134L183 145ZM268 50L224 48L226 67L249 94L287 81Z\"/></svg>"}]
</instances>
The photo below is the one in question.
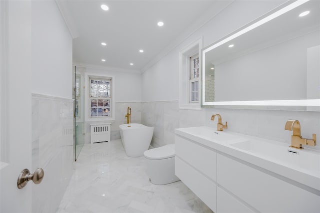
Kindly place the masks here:
<instances>
[{"instance_id":1,"label":"white door with round metal knob at left edge","mask_svg":"<svg viewBox=\"0 0 320 213\"><path fill-rule=\"evenodd\" d=\"M31 212L31 2L0 1L0 212ZM33 173L33 171L30 171Z\"/></svg>"}]
</instances>

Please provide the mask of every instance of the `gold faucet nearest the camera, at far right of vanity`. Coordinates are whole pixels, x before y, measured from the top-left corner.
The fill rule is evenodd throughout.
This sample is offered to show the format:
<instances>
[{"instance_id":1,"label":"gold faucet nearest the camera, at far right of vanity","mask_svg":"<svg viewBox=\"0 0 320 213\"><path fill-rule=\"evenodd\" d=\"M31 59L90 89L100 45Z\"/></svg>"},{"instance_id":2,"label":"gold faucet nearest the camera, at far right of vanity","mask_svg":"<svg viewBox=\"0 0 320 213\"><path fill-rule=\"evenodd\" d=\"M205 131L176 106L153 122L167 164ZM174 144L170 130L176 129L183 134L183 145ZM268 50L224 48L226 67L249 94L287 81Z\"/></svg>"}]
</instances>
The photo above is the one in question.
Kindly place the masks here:
<instances>
[{"instance_id":1,"label":"gold faucet nearest the camera, at far right of vanity","mask_svg":"<svg viewBox=\"0 0 320 213\"><path fill-rule=\"evenodd\" d=\"M302 145L315 146L316 135L312 134L312 139L302 138L300 136L300 122L298 120L287 120L285 123L285 130L293 130L291 135L291 146L296 149L303 149Z\"/></svg>"}]
</instances>

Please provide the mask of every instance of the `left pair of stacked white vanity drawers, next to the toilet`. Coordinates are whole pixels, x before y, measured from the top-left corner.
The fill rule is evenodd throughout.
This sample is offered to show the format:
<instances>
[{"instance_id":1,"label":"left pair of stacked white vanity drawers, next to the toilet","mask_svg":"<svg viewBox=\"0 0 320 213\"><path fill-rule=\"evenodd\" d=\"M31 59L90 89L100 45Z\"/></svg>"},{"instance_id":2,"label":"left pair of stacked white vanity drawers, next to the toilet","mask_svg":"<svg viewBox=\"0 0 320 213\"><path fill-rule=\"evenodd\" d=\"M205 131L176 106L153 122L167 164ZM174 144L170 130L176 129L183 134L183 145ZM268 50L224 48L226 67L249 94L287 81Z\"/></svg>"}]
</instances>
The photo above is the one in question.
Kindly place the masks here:
<instances>
[{"instance_id":1,"label":"left pair of stacked white vanity drawers, next to the toilet","mask_svg":"<svg viewBox=\"0 0 320 213\"><path fill-rule=\"evenodd\" d=\"M175 136L175 175L216 212L216 153Z\"/></svg>"}]
</instances>

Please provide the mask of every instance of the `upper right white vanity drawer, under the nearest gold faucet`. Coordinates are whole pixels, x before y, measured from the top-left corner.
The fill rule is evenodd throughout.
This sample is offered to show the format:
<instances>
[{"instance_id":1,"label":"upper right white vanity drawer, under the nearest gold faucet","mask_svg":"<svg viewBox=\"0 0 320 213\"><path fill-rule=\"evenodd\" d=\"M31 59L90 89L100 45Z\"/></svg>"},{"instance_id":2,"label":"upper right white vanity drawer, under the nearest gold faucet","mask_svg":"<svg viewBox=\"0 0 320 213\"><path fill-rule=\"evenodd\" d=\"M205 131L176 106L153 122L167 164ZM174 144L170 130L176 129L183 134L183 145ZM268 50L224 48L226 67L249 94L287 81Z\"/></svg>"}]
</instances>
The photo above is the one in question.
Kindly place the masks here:
<instances>
[{"instance_id":1,"label":"upper right white vanity drawer, under the nearest gold faucet","mask_svg":"<svg viewBox=\"0 0 320 213\"><path fill-rule=\"evenodd\" d=\"M320 196L262 171L217 154L217 183L259 212L320 212Z\"/></svg>"}]
</instances>

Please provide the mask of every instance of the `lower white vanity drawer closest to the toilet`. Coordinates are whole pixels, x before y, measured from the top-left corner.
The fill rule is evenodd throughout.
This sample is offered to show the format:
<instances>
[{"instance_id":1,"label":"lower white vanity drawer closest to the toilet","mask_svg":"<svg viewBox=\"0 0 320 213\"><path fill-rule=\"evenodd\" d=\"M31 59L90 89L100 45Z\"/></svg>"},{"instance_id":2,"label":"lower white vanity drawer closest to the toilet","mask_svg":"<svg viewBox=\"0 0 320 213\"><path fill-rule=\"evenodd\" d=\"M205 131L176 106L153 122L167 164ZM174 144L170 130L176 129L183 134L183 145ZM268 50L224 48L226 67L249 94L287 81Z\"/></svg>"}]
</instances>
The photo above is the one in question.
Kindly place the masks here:
<instances>
[{"instance_id":1,"label":"lower white vanity drawer closest to the toilet","mask_svg":"<svg viewBox=\"0 0 320 213\"><path fill-rule=\"evenodd\" d=\"M216 212L216 185L190 165L175 156L175 175L205 203Z\"/></svg>"}]
</instances>

